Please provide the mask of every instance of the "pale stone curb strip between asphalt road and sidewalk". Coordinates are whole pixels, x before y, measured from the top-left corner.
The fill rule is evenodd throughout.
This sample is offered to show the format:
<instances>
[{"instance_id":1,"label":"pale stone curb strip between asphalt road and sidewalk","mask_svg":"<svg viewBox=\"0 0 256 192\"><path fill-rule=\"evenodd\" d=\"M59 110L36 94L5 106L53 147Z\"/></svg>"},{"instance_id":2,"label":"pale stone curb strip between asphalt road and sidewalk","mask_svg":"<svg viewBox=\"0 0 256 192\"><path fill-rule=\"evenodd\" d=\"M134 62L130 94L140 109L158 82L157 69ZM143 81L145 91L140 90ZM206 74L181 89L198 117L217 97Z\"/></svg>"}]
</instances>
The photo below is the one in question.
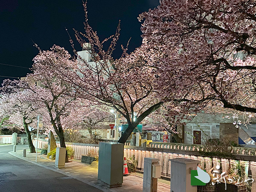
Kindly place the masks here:
<instances>
[{"instance_id":1,"label":"pale stone curb strip between asphalt road and sidewalk","mask_svg":"<svg viewBox=\"0 0 256 192\"><path fill-rule=\"evenodd\" d=\"M93 187L95 187L96 189L102 190L103 192L113 192L113 191L111 191L111 190L109 190L109 189L107 189L107 188L104 188L104 187L102 187L102 186L99 186L99 185L97 185L97 184L95 184L95 183L93 183L93 182L89 182L89 181L87 181L87 180L85 180L85 179L81 179L80 177L73 176L72 174L62 172L60 169L56 169L56 168L51 168L51 167L48 167L48 166L44 166L44 165L41 165L40 163L35 163L35 162L33 162L33 161L27 160L27 159L24 158L24 157L20 157L20 156L14 154L14 153L15 153L15 152L13 152L13 151L8 152L8 154L10 154L10 155L12 155L12 156L14 156L14 157L17 157L17 158L19 158L19 159L21 159L21 160L25 160L25 161L27 161L27 162L29 162L29 163L33 163L33 164L35 164L35 165L37 165L37 166L41 166L41 167L43 167L43 168L45 168L45 169L49 169L49 170L52 170L52 171L54 171L54 172L61 173L61 174L66 175L66 176L68 176L68 177L72 177L73 179L79 180L79 181L81 181L81 182L83 182L83 183L85 183L85 184L87 184L87 185L93 186Z\"/></svg>"}]
</instances>

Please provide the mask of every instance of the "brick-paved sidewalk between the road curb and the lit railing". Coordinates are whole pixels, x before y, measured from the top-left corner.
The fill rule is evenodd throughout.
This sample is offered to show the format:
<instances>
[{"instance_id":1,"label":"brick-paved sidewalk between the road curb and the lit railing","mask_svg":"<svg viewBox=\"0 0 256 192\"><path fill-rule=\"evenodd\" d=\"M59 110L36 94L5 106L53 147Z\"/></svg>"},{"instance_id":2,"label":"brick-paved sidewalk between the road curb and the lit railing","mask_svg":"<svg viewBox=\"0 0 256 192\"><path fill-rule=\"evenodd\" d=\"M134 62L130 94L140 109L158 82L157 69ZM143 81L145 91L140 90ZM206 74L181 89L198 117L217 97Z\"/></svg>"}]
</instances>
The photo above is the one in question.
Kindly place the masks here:
<instances>
[{"instance_id":1,"label":"brick-paved sidewalk between the road curb and the lit railing","mask_svg":"<svg viewBox=\"0 0 256 192\"><path fill-rule=\"evenodd\" d=\"M55 172L59 172L68 177L77 179L83 183L93 186L103 192L142 192L143 191L143 178L137 175L129 175L123 177L122 187L107 188L98 183L98 169L92 168L87 164L80 163L77 160L71 160L69 163L65 163L64 169L56 169L55 161L46 159L46 155L38 154L38 162L35 163L35 153L26 153L26 157L23 157L23 150L16 152L9 152L15 157L22 160L26 160L30 163L36 164L38 166L50 169ZM157 192L169 192L170 186L164 183L158 182Z\"/></svg>"}]
</instances>

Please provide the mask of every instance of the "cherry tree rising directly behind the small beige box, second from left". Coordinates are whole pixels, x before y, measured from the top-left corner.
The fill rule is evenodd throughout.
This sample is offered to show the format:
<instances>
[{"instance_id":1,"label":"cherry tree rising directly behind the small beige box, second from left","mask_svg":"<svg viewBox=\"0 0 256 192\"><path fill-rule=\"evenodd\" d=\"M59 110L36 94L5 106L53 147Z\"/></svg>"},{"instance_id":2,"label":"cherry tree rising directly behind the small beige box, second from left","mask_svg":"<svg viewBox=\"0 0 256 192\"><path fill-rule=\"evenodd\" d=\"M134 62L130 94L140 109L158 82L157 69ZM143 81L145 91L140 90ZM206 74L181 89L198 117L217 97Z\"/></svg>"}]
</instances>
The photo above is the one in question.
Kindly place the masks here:
<instances>
[{"instance_id":1,"label":"cherry tree rising directly behind the small beige box, second from left","mask_svg":"<svg viewBox=\"0 0 256 192\"><path fill-rule=\"evenodd\" d=\"M71 70L69 66L76 65L73 64L76 61L71 59L71 55L64 48L56 45L47 51L40 50L33 61L33 73L27 76L27 85L44 103L48 112L46 119L50 119L50 126L58 135L61 147L65 148L63 120L75 107L76 93L71 84L58 78L55 69L58 68L62 73L68 74Z\"/></svg>"}]
</instances>

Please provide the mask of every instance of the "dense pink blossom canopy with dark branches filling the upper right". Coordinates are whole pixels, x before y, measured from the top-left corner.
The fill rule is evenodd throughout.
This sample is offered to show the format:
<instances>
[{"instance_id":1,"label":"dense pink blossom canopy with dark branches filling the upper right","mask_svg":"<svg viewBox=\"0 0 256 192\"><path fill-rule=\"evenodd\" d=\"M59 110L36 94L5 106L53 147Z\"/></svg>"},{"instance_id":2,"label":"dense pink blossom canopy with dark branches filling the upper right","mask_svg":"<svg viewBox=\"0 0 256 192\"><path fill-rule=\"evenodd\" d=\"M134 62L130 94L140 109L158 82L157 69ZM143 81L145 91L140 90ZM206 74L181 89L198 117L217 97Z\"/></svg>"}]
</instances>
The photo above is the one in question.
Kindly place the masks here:
<instances>
[{"instance_id":1,"label":"dense pink blossom canopy with dark branches filling the upper right","mask_svg":"<svg viewBox=\"0 0 256 192\"><path fill-rule=\"evenodd\" d=\"M195 112L255 115L255 1L161 0L139 20L145 53L159 55L151 65L160 97Z\"/></svg>"}]
</instances>

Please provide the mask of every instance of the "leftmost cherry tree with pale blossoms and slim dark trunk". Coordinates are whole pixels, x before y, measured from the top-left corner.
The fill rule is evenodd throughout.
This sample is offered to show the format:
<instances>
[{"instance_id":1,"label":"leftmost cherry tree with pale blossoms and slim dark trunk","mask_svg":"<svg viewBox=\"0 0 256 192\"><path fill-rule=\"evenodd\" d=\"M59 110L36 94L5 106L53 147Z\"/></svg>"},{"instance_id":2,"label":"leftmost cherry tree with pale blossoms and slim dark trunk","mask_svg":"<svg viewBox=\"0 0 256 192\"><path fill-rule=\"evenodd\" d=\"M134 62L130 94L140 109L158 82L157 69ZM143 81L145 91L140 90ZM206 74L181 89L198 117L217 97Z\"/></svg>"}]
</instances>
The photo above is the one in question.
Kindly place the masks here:
<instances>
[{"instance_id":1,"label":"leftmost cherry tree with pale blossoms and slim dark trunk","mask_svg":"<svg viewBox=\"0 0 256 192\"><path fill-rule=\"evenodd\" d=\"M29 127L36 127L37 116L41 114L41 102L29 89L20 89L20 81L4 81L1 88L0 113L8 116L8 122L26 131L30 153L35 153Z\"/></svg>"}]
</instances>

